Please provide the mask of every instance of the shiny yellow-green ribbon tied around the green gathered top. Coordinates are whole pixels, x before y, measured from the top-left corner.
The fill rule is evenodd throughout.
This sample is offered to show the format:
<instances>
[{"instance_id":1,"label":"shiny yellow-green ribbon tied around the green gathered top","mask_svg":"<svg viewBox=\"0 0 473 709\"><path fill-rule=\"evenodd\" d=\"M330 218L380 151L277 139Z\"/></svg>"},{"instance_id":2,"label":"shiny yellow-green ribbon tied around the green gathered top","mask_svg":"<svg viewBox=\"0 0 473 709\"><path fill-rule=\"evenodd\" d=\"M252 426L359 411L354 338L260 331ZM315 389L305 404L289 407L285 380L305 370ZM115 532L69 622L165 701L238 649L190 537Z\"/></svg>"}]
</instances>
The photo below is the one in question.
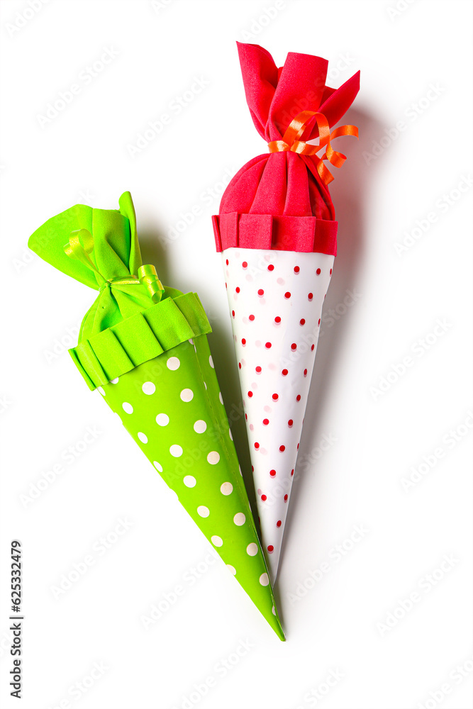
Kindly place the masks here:
<instances>
[{"instance_id":1,"label":"shiny yellow-green ribbon tied around the green gathered top","mask_svg":"<svg viewBox=\"0 0 473 709\"><path fill-rule=\"evenodd\" d=\"M100 286L99 291L102 291L106 286L113 285L142 285L145 286L153 303L160 302L165 289L160 279L157 277L156 269L152 264L140 266L138 276L130 274L130 276L126 277L105 278L89 256L94 250L94 237L87 229L79 229L71 232L69 242L65 245L64 250L69 258L77 259L77 261L83 263L96 274Z\"/></svg>"}]
</instances>

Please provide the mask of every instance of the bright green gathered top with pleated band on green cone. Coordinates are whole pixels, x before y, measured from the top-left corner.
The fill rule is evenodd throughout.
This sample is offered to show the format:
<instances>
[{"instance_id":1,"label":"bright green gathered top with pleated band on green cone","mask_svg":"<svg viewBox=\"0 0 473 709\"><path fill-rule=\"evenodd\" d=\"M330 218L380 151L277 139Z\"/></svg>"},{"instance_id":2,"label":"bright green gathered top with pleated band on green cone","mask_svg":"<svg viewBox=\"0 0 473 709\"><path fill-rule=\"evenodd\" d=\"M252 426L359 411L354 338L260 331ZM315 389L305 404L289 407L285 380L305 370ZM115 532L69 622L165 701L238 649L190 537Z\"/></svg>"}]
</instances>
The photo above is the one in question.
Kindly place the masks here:
<instances>
[{"instance_id":1,"label":"bright green gathered top with pleated band on green cone","mask_svg":"<svg viewBox=\"0 0 473 709\"><path fill-rule=\"evenodd\" d=\"M119 210L77 204L48 219L28 246L63 273L99 291L69 350L89 389L211 332L194 293L164 288L143 266L129 192Z\"/></svg>"}]
</instances>

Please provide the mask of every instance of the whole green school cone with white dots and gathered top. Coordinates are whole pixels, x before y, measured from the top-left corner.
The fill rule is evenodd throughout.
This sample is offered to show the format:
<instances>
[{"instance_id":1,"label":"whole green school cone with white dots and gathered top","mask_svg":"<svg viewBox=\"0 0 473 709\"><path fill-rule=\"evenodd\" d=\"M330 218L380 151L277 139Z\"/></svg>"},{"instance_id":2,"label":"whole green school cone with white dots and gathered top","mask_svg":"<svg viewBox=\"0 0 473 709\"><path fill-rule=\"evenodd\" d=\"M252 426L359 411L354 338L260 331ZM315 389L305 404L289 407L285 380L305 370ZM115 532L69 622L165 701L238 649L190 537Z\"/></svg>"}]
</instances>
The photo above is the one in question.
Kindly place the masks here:
<instances>
[{"instance_id":1,"label":"whole green school cone with white dots and gathered top","mask_svg":"<svg viewBox=\"0 0 473 709\"><path fill-rule=\"evenodd\" d=\"M119 210L78 204L52 217L28 246L99 291L69 350L108 406L284 640L194 293L164 287L142 265L129 192ZM196 455L196 451L199 452ZM179 459L194 455L191 469Z\"/></svg>"}]
</instances>

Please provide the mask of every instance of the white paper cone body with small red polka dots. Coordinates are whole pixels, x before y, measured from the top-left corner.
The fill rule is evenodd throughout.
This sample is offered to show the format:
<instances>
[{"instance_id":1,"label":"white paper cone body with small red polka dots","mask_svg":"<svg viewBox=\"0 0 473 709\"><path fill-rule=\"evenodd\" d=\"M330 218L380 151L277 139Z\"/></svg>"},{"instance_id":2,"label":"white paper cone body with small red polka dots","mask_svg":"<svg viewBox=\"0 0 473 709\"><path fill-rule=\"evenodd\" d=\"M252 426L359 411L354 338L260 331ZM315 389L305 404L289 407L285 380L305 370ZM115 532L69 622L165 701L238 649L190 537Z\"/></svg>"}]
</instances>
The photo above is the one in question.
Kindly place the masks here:
<instances>
[{"instance_id":1,"label":"white paper cone body with small red polka dots","mask_svg":"<svg viewBox=\"0 0 473 709\"><path fill-rule=\"evenodd\" d=\"M262 546L276 578L333 256L223 251Z\"/></svg>"}]
</instances>

